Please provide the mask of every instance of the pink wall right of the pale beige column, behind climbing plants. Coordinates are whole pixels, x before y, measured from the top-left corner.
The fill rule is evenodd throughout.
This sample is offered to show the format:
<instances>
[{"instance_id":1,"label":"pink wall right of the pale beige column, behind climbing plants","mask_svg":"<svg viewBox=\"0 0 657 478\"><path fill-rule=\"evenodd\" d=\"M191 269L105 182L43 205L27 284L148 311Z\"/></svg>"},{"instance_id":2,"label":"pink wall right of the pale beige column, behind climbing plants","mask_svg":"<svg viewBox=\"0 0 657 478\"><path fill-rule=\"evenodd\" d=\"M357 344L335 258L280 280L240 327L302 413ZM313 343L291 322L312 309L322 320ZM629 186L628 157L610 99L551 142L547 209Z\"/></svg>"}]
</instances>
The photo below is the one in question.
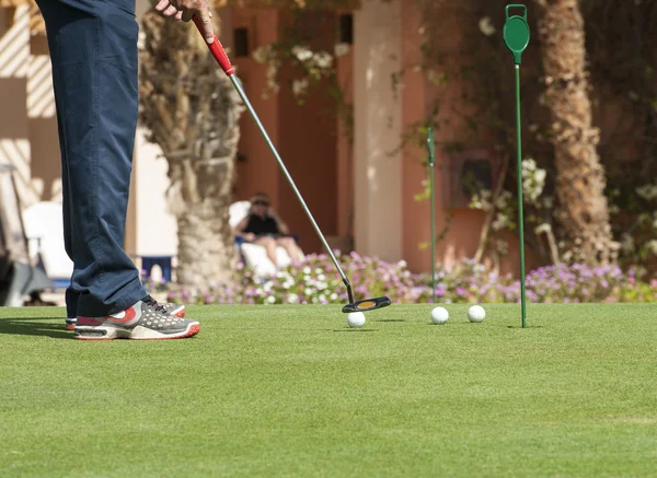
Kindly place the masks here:
<instances>
[{"instance_id":1,"label":"pink wall right of the pale beige column, behind climbing plants","mask_svg":"<svg viewBox=\"0 0 657 478\"><path fill-rule=\"evenodd\" d=\"M441 8L437 12L447 15L449 8ZM447 10L447 12L445 11ZM457 18L454 15L454 18ZM417 65L420 62L420 51L418 45L422 44L419 26L422 23L420 12L417 0L408 0L404 3L403 15L401 19L403 39L402 51L404 66ZM453 61L458 59L450 51L458 51L463 33L466 28L456 21L443 22L441 32L441 42L434 47L439 48L447 54L447 58ZM437 89L441 89L438 91ZM410 127L416 121L423 121L428 117L435 95L441 94L446 97L458 98L462 89L458 82L449 82L446 86L435 86L429 84L423 73L407 71L404 75L403 97L403 123ZM466 110L466 105L459 104L461 112ZM448 119L449 124L442 123ZM449 107L443 107L438 115L438 121L441 123L440 129L435 131L438 141L456 141L469 138L472 135L462 119L462 115L454 115ZM477 132L470 148L489 148L493 142L486 131ZM430 241L430 203L428 201L415 201L414 195L423 190L422 180L427 178L426 170L420 165L420 159L427 158L426 148L408 148L404 154L404 176L403 182L403 224L404 224L404 258L408 267L414 271L427 271L431 267L430 249L420 250L418 245ZM449 176L450 159L440 149L436 147L436 233L440 234L448 220L449 188L458 185L450 184ZM479 245L481 229L484 221L484 213L481 211L459 208L453 211L449 233L445 240L437 245L436 260L439 263L451 264L454 260L464 257L473 257ZM516 273L518 269L518 241L509 235L509 255L502 260L503 272ZM535 258L528 253L528 267L537 265Z\"/></svg>"}]
</instances>

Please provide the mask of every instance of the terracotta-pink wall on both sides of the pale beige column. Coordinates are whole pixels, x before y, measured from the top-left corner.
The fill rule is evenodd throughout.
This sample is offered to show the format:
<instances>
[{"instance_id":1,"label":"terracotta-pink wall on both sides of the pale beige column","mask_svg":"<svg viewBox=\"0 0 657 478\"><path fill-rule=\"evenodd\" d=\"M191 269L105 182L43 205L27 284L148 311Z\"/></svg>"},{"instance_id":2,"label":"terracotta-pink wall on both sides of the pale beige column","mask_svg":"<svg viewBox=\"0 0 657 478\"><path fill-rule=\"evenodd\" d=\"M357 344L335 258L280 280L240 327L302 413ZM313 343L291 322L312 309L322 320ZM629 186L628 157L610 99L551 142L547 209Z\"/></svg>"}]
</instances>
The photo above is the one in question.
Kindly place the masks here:
<instances>
[{"instance_id":1,"label":"terracotta-pink wall on both sides of the pale beige column","mask_svg":"<svg viewBox=\"0 0 657 478\"><path fill-rule=\"evenodd\" d=\"M416 5L415 5L416 7ZM326 14L326 13L315 13ZM250 49L275 42L285 22L286 14L274 9L233 9L232 27L247 27L250 31ZM417 45L420 42L418 25L419 11L408 2L405 3L402 22L403 65L419 62ZM446 50L458 45L461 28L450 23L446 27L451 32L445 37L451 42L445 44ZM231 35L232 32L224 32ZM319 44L332 48L333 37L325 34L319 38ZM307 104L299 106L292 97L287 82L293 78L293 72L281 71L280 93L267 100L262 98L265 88L265 65L255 62L252 58L234 58L238 75L243 81L247 95L253 103L261 120L267 128L288 171L313 212L320 228L326 235L345 235L348 232L350 206L353 203L353 152L349 151L346 138L341 133L341 125L335 117L334 105L325 92L315 92ZM337 60L337 74L347 100L351 98L353 89L353 54ZM429 85L424 75L407 72L404 77L404 89L401 91L402 120L405 126L426 118L436 91ZM449 94L457 96L460 90L450 83ZM445 118L445 117L443 117ZM458 118L450 118L449 127L438 132L439 140L456 140L465 133L465 126ZM253 120L246 113L241 120L240 153L246 156L245 163L238 163L237 199L247 199L252 194L264 190L272 196L274 207L288 222L290 229L300 235L306 252L323 252L315 232L299 206L291 188L279 171L278 165L266 147ZM485 137L479 138L473 148L486 148L489 143ZM412 270L428 270L430 267L430 250L419 249L419 243L430 240L429 203L415 201L414 195L422 190L422 180L426 171L419 160L426 156L424 148L410 148L404 154L403 175L400 177L403 187L403 258ZM441 167L442 166L442 167ZM449 195L443 188L449 187L449 159L437 149L436 164L436 230L440 232L448 219ZM450 232L446 240L439 243L437 260L451 263L461 257L472 257L479 243L484 214L469 209L458 209L451 222ZM511 256L503 270L517 269L515 248L517 242L510 237Z\"/></svg>"}]
</instances>

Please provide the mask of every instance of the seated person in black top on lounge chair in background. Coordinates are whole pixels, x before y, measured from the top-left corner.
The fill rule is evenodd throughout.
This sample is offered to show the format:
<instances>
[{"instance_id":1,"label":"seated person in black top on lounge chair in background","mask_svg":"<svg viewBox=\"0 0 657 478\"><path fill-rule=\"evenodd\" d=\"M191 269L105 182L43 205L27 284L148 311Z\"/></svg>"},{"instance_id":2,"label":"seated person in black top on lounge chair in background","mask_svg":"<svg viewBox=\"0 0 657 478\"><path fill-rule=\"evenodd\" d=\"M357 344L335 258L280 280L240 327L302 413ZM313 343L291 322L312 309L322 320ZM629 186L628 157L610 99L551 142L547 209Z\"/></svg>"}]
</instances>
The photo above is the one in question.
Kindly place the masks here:
<instances>
[{"instance_id":1,"label":"seated person in black top on lounge chair in background","mask_svg":"<svg viewBox=\"0 0 657 478\"><path fill-rule=\"evenodd\" d=\"M270 209L269 197L264 193L258 193L251 199L249 215L240 221L234 232L249 243L264 246L267 257L275 266L278 266L276 246L285 248L292 260L301 260L303 253L295 238L288 235L287 224Z\"/></svg>"}]
</instances>

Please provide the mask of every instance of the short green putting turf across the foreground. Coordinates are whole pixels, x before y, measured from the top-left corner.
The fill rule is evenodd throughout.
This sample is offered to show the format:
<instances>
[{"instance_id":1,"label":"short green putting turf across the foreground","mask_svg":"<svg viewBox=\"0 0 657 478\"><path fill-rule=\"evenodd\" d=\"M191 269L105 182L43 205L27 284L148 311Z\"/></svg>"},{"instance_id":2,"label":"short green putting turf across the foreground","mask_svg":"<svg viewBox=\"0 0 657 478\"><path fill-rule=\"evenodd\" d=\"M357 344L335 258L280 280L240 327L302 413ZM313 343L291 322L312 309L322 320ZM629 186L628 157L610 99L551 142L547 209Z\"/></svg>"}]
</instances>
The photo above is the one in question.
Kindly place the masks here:
<instances>
[{"instance_id":1,"label":"short green putting turf across the foreground","mask_svg":"<svg viewBox=\"0 0 657 478\"><path fill-rule=\"evenodd\" d=\"M0 308L0 474L654 476L654 305L430 308L189 307L145 342Z\"/></svg>"}]
</instances>

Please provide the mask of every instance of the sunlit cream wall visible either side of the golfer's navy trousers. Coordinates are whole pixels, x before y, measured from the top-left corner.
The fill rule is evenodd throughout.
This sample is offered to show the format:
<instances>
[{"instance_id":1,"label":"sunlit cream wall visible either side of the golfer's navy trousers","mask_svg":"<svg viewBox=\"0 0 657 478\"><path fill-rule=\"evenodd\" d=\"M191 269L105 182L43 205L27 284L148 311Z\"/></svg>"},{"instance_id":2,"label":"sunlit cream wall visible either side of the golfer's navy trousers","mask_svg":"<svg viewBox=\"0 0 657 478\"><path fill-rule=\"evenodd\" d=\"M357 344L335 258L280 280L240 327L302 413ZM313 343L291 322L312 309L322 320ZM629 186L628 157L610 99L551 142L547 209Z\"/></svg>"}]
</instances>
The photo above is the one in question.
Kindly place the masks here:
<instances>
[{"instance_id":1,"label":"sunlit cream wall visible either side of the golfer's navy trousers","mask_svg":"<svg viewBox=\"0 0 657 478\"><path fill-rule=\"evenodd\" d=\"M148 0L138 0L138 16ZM61 201L61 164L51 69L44 34L31 35L28 9L19 8L11 30L10 9L0 9L0 161L18 167L24 208ZM11 112L11 114L5 114ZM136 138L128 206L126 249L138 255L174 255L175 222L166 212L166 162L157 145Z\"/></svg>"}]
</instances>

